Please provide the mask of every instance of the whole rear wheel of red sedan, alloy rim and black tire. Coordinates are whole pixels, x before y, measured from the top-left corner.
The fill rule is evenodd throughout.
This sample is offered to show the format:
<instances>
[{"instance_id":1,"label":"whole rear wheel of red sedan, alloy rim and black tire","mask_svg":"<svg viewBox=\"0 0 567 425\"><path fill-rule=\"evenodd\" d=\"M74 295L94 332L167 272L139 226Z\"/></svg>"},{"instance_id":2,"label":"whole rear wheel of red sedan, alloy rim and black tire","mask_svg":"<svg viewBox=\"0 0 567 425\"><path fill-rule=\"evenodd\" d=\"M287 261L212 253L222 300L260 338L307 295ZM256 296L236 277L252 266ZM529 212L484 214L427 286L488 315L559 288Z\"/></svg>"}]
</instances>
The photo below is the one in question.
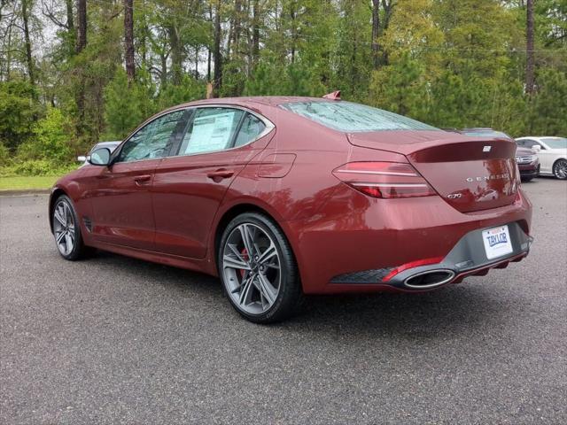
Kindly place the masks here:
<instances>
[{"instance_id":1,"label":"whole rear wheel of red sedan, alloy rim and black tire","mask_svg":"<svg viewBox=\"0 0 567 425\"><path fill-rule=\"evenodd\" d=\"M302 293L291 246L267 216L244 213L230 221L217 264L230 304L249 321L282 321L299 305Z\"/></svg>"}]
</instances>

